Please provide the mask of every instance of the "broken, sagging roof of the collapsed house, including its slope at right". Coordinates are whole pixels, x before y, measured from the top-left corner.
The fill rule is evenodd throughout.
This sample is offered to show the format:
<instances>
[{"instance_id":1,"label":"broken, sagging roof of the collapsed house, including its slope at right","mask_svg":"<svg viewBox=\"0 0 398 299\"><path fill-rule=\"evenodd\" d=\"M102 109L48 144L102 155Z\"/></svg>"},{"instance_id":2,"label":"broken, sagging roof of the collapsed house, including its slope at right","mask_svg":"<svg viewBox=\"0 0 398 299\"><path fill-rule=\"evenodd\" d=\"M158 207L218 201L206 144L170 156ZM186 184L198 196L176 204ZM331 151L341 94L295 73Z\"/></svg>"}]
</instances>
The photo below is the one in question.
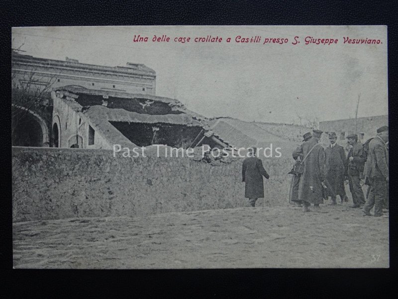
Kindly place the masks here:
<instances>
[{"instance_id":1,"label":"broken, sagging roof of the collapsed house, including its slope at right","mask_svg":"<svg viewBox=\"0 0 398 299\"><path fill-rule=\"evenodd\" d=\"M124 92L113 92L103 90L91 90L79 86L65 86L58 88L55 94L65 103L72 107L75 111L84 114L100 130L104 137L110 142L123 145L131 141L124 137L110 122L127 122L127 123L146 123L146 124L171 124L185 125L187 127L200 127L206 137L214 138L226 146L235 148L247 148L252 146L268 147L273 143L274 148L281 147L284 154L291 155L296 145L286 139L274 135L255 123L244 122L233 118L218 118L208 120L205 117L189 111L184 105L175 99L157 97L144 94L129 94ZM82 106L79 97L85 95L95 96L95 104L90 106ZM98 97L98 98L97 98ZM140 101L141 106L148 103L148 107L154 102L166 103L161 107L172 107L179 113L171 114L171 110L167 110L167 114L148 114L148 111L141 109L138 112L131 111L131 107L116 108L127 105L129 101L119 101L117 105L114 99L144 99ZM91 101L91 100L90 100ZM87 103L94 103L93 101ZM101 103L101 104L100 104ZM113 106L111 106L113 105ZM137 109L136 105L133 108ZM145 108L145 107L144 107ZM130 111L128 110L130 109ZM134 110L132 109L132 110ZM162 109L162 108L157 108ZM155 111L156 112L156 111Z\"/></svg>"}]
</instances>

